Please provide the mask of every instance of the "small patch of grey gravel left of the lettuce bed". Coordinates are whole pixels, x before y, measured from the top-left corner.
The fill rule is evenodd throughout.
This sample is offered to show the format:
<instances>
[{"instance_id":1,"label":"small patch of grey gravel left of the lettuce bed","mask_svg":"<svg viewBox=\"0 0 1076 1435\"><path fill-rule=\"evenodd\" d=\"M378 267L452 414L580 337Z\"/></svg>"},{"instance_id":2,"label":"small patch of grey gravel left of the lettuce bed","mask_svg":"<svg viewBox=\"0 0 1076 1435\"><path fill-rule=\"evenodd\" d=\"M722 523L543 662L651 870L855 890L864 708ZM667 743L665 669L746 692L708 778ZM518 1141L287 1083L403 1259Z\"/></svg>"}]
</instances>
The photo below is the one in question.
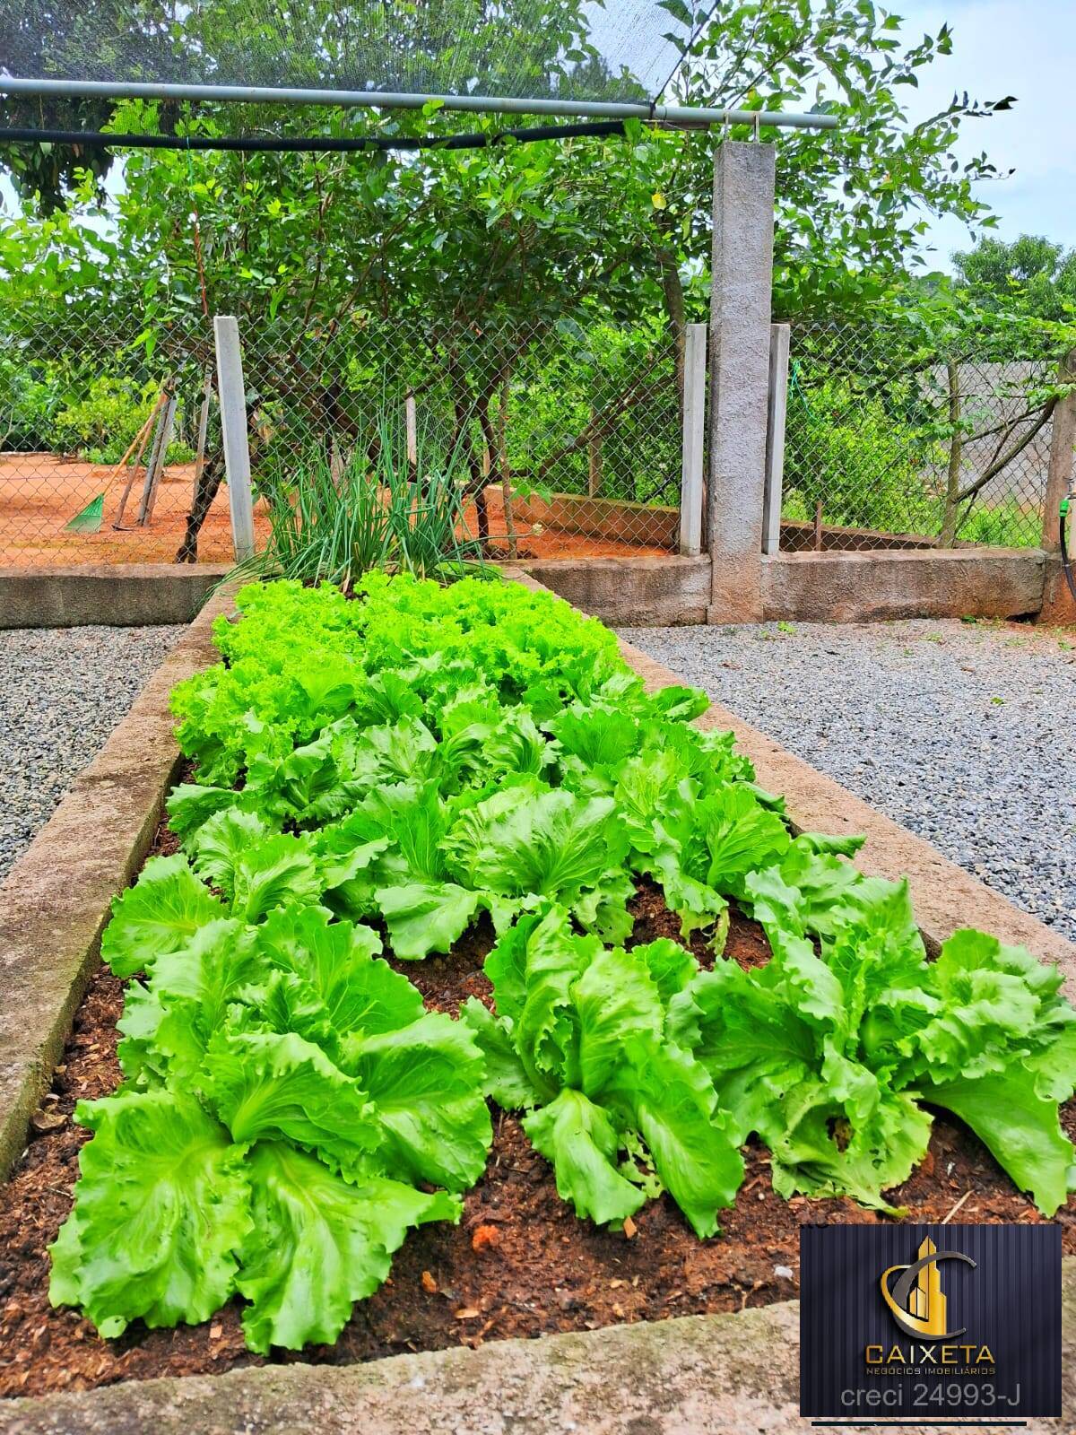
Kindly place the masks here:
<instances>
[{"instance_id":1,"label":"small patch of grey gravel left of the lettuce bed","mask_svg":"<svg viewBox=\"0 0 1076 1435\"><path fill-rule=\"evenodd\" d=\"M182 631L0 631L0 880Z\"/></svg>"}]
</instances>

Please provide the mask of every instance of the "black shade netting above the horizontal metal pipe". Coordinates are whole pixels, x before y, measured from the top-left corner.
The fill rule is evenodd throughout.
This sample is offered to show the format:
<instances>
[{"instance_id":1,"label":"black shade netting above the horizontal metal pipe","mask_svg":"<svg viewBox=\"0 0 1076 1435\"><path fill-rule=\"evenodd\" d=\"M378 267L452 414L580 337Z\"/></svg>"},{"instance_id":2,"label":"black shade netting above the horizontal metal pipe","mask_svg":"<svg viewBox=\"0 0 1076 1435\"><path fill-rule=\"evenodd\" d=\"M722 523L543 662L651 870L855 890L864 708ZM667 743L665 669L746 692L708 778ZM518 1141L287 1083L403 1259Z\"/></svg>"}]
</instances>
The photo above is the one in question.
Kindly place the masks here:
<instances>
[{"instance_id":1,"label":"black shade netting above the horizontal metal pipe","mask_svg":"<svg viewBox=\"0 0 1076 1435\"><path fill-rule=\"evenodd\" d=\"M694 22L648 0L0 0L0 73L646 100Z\"/></svg>"}]
</instances>

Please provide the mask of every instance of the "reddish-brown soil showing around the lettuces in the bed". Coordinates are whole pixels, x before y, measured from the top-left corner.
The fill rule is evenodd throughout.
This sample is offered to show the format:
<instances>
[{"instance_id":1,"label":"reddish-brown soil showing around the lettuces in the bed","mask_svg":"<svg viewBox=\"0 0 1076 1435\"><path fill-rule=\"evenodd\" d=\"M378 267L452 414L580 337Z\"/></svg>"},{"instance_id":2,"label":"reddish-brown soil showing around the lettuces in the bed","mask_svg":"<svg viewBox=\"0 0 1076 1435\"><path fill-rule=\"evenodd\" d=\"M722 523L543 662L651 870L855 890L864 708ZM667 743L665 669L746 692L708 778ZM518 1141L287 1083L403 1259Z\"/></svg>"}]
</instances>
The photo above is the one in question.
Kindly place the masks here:
<instances>
[{"instance_id":1,"label":"reddish-brown soil showing around the lettuces in the bed","mask_svg":"<svg viewBox=\"0 0 1076 1435\"><path fill-rule=\"evenodd\" d=\"M174 839L162 831L155 851L168 850ZM677 936L677 920L657 888L643 884L633 911L636 941ZM491 1000L481 970L491 941L492 928L479 924L450 956L393 964L416 983L430 1009L455 1013L468 996ZM739 914L726 951L742 966L759 966L769 956L760 928ZM702 946L696 954L709 961ZM72 1124L70 1114L79 1098L105 1095L119 1083L115 1023L122 1002L123 984L100 971L34 1118L30 1145L0 1188L0 1395L264 1363L244 1346L238 1300L201 1326L146 1330L138 1323L119 1340L102 1340L77 1312L49 1306L46 1247L70 1210L79 1148L89 1135ZM1063 1122L1076 1135L1076 1102L1065 1108ZM392 1277L356 1306L334 1346L281 1359L350 1363L763 1306L798 1294L801 1225L885 1220L851 1200L783 1201L770 1187L765 1148L750 1145L747 1174L735 1207L725 1213L720 1236L697 1240L677 1207L661 1197L643 1207L628 1237L577 1220L515 1116L495 1111L494 1132L486 1174L468 1192L461 1224L412 1233ZM898 1198L918 1221L940 1221L957 1205L961 1221L1042 1220L983 1145L941 1118L927 1158ZM1076 1201L1057 1220L1063 1247L1075 1254Z\"/></svg>"}]
</instances>

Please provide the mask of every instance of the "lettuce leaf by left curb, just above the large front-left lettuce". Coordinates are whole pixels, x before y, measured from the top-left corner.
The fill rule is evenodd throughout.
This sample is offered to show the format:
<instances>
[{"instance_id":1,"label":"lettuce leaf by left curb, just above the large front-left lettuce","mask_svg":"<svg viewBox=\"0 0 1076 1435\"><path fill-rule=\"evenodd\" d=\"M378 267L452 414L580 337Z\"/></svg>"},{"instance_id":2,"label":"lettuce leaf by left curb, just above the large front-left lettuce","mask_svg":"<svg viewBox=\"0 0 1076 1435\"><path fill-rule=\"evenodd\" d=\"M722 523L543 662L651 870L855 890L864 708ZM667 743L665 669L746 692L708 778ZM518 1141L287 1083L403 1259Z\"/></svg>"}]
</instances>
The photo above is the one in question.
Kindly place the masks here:
<instances>
[{"instance_id":1,"label":"lettuce leaf by left curb, just above the large front-left lettuce","mask_svg":"<svg viewBox=\"0 0 1076 1435\"><path fill-rule=\"evenodd\" d=\"M135 885L112 903L100 959L118 977L152 970L158 956L182 951L199 927L224 916L185 857L151 857Z\"/></svg>"}]
</instances>

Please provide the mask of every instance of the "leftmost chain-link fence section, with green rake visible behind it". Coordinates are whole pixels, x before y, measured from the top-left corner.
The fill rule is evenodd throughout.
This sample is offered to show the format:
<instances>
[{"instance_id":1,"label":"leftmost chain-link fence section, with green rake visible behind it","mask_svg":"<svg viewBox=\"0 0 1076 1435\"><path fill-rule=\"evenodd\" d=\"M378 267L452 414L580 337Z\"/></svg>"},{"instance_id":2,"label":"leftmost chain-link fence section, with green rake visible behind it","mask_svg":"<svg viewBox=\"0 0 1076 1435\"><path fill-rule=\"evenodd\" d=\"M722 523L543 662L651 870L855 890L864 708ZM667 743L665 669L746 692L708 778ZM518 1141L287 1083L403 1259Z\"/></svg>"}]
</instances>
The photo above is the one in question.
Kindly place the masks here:
<instances>
[{"instance_id":1,"label":"leftmost chain-link fence section, with green rake visible behind it","mask_svg":"<svg viewBox=\"0 0 1076 1435\"><path fill-rule=\"evenodd\" d=\"M175 558L199 426L220 446L212 326L146 334L136 316L42 304L0 314L0 564ZM227 563L227 498L202 557Z\"/></svg>"}]
</instances>

